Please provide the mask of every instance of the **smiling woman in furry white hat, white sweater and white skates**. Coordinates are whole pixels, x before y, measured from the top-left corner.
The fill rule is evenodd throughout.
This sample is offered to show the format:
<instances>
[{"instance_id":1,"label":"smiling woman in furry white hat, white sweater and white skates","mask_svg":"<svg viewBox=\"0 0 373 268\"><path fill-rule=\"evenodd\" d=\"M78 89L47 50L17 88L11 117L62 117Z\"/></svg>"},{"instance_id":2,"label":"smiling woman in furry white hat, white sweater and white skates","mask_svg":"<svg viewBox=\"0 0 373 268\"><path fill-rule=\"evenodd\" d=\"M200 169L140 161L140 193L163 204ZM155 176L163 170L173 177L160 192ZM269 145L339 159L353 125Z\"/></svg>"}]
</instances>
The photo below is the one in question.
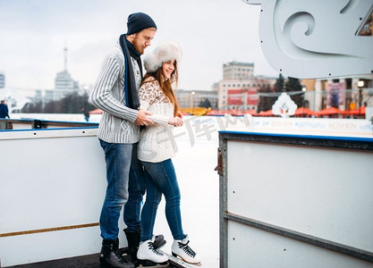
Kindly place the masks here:
<instances>
[{"instance_id":1,"label":"smiling woman in furry white hat, white sweater and white skates","mask_svg":"<svg viewBox=\"0 0 373 268\"><path fill-rule=\"evenodd\" d=\"M177 85L177 63L182 52L171 41L160 43L144 57L147 74L140 86L140 109L153 113L149 116L157 125L141 133L138 157L144 166L147 199L141 212L141 239L137 254L140 260L164 263L168 257L153 247L153 229L157 206L165 195L165 216L173 234L172 253L185 262L199 264L199 256L191 249L189 238L182 231L180 190L171 157L174 156L171 129L182 126L173 85Z\"/></svg>"}]
</instances>

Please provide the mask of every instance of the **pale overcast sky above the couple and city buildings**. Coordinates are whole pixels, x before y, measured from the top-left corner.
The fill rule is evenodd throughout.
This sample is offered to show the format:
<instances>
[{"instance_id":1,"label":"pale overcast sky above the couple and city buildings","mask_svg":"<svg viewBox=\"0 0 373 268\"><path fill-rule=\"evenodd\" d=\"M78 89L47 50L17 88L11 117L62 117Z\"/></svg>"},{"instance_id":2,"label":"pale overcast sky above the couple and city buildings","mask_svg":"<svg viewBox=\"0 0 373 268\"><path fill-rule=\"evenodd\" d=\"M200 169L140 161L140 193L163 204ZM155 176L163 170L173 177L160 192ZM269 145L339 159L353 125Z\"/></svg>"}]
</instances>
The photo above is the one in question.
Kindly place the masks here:
<instances>
[{"instance_id":1,"label":"pale overcast sky above the couple and city buildings","mask_svg":"<svg viewBox=\"0 0 373 268\"><path fill-rule=\"evenodd\" d=\"M158 28L147 50L165 39L182 47L179 88L210 89L232 61L277 77L259 45L259 8L242 0L0 0L0 71L7 88L52 89L67 46L72 79L94 84L128 15L143 12Z\"/></svg>"}]
</instances>

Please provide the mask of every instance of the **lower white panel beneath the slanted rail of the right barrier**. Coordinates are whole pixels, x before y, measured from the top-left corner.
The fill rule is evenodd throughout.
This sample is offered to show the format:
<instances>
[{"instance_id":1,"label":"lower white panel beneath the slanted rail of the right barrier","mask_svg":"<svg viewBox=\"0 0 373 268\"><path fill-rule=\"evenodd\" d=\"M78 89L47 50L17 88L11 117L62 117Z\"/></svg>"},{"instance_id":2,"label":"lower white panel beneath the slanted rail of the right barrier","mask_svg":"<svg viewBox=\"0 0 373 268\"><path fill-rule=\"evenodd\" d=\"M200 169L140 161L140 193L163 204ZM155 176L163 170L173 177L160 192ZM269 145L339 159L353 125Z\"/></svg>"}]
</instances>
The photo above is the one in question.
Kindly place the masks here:
<instances>
[{"instance_id":1,"label":"lower white panel beneath the slanted rail of the right barrier","mask_svg":"<svg viewBox=\"0 0 373 268\"><path fill-rule=\"evenodd\" d=\"M351 268L373 264L265 230L229 222L228 267Z\"/></svg>"}]
</instances>

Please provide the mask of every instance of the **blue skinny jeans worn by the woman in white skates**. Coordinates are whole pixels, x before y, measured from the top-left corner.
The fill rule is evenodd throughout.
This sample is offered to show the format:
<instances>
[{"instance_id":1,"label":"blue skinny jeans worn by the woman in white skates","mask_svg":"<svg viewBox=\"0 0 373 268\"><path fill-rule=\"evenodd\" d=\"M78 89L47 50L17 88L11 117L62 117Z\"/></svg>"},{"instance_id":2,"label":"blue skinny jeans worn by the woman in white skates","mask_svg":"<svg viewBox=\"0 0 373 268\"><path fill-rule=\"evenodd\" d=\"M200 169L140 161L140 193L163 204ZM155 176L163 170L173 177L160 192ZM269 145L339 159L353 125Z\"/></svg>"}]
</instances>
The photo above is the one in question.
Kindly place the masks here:
<instances>
[{"instance_id":1,"label":"blue skinny jeans worn by the woman in white skates","mask_svg":"<svg viewBox=\"0 0 373 268\"><path fill-rule=\"evenodd\" d=\"M147 199L141 212L141 241L153 237L157 207L162 194L165 195L165 217L174 239L184 239L182 215L180 212L180 189L174 164L171 159L160 163L141 162L147 185Z\"/></svg>"}]
</instances>

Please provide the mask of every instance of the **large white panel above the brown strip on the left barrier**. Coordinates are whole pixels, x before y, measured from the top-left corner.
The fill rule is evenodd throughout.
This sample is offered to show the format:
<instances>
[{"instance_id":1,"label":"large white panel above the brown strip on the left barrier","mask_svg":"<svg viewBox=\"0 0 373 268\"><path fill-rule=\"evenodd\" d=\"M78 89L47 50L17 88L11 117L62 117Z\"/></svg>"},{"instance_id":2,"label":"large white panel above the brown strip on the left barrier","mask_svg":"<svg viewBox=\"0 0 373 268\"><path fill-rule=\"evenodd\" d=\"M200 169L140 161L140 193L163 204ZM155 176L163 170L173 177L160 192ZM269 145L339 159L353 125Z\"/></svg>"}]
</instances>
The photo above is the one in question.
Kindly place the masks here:
<instances>
[{"instance_id":1,"label":"large white panel above the brown strip on the left barrier","mask_svg":"<svg viewBox=\"0 0 373 268\"><path fill-rule=\"evenodd\" d=\"M2 140L1 147L0 196L12 202L2 206L2 232L97 222L104 192L97 184L104 187L106 177L96 137Z\"/></svg>"}]
</instances>

